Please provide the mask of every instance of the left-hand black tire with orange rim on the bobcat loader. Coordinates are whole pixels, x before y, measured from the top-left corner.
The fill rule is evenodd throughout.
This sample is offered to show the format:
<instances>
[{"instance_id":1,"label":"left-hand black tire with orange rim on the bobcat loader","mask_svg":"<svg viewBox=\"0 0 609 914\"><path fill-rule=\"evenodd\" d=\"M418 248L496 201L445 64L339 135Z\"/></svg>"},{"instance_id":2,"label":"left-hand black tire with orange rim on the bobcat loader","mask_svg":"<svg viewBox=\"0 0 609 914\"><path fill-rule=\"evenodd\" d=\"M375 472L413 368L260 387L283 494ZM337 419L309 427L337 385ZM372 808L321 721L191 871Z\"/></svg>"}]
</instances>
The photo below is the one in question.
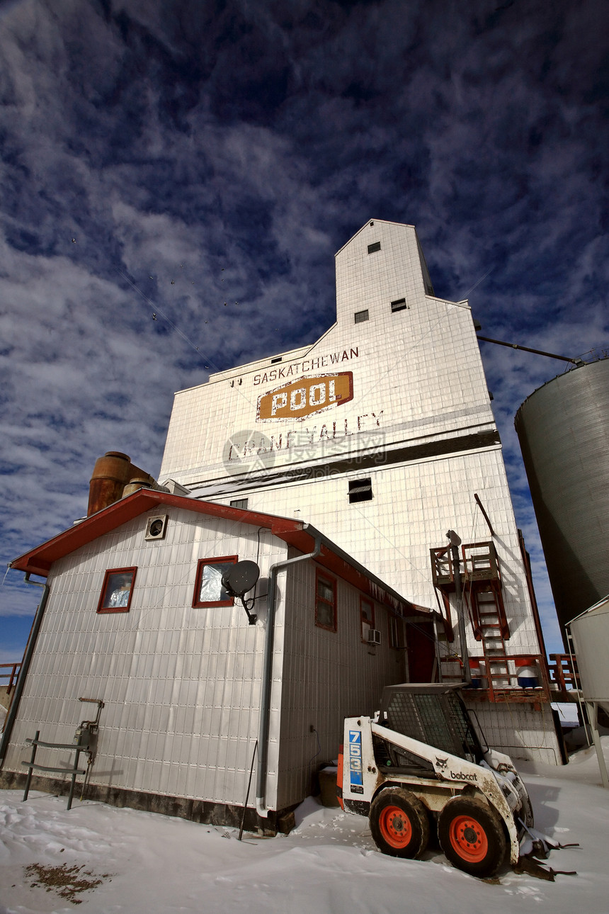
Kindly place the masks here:
<instances>
[{"instance_id":1,"label":"left-hand black tire with orange rim on the bobcat loader","mask_svg":"<svg viewBox=\"0 0 609 914\"><path fill-rule=\"evenodd\" d=\"M427 810L414 793L385 787L370 805L370 830L383 854L412 860L429 840Z\"/></svg>"}]
</instances>

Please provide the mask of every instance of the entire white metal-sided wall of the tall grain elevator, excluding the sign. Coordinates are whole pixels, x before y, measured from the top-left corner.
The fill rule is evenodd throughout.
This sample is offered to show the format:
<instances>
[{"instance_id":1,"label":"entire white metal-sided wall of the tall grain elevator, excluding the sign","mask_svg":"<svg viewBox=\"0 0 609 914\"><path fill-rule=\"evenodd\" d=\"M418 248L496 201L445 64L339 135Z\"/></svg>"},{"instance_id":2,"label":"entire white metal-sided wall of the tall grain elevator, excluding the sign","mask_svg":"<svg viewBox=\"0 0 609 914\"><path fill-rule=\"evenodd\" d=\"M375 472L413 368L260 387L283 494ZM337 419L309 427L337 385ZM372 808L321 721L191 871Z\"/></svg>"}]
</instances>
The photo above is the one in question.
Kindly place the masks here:
<instances>
[{"instance_id":1,"label":"entire white metal-sided wall of the tall grain elevator, excluding the sign","mask_svg":"<svg viewBox=\"0 0 609 914\"><path fill-rule=\"evenodd\" d=\"M368 244L381 250L368 253ZM298 516L317 526L409 600L436 607L430 547L446 530L464 543L490 539L477 493L496 532L511 637L507 650L538 654L516 521L499 444L385 462L392 448L496 431L471 313L465 302L425 294L415 228L374 220L336 257L337 322L308 351L213 376L176 394L162 474L228 503ZM392 313L391 302L407 308ZM353 323L367 308L370 320ZM335 361L338 359L338 361ZM353 399L301 421L257 420L257 398L296 377L352 371ZM283 375L280 373L283 372ZM238 381L238 383L237 383ZM231 387L231 383L233 387ZM226 444L247 452L243 466ZM247 442L247 448L246 448ZM463 446L461 444L460 446ZM327 473L339 457L375 455L374 466ZM252 476L268 469L264 486ZM278 470L309 467L294 483ZM336 468L334 468L336 469ZM244 476L241 471L252 471ZM276 484L268 484L278 473ZM372 479L373 499L349 504L349 482ZM228 494L227 486L242 486ZM468 628L469 647L479 644Z\"/></svg>"}]
</instances>

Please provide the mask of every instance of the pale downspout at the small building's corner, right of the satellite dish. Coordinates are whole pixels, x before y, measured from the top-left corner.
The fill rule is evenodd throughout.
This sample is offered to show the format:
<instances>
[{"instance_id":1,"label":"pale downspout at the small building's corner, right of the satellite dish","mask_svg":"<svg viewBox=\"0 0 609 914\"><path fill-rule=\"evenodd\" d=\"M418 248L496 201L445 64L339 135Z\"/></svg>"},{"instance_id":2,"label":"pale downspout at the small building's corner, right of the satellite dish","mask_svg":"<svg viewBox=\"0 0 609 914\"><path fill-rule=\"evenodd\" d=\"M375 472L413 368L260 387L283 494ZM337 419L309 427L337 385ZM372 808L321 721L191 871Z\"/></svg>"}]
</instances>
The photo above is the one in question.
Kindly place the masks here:
<instances>
[{"instance_id":1,"label":"pale downspout at the small building's corner, right of the satellite dish","mask_svg":"<svg viewBox=\"0 0 609 914\"><path fill-rule=\"evenodd\" d=\"M307 529L307 524L304 529ZM268 764L268 724L270 720L270 693L273 674L273 643L275 640L275 609L277 600L278 572L288 565L304 562L308 558L317 558L321 552L321 534L319 530L310 527L315 541L315 548L306 556L286 558L283 562L276 562L268 569L268 596L267 596L267 632L265 634L264 660L262 666L262 693L260 696L260 725L258 728L258 765L256 775L256 811L263 819L268 817L267 808L267 764Z\"/></svg>"}]
</instances>

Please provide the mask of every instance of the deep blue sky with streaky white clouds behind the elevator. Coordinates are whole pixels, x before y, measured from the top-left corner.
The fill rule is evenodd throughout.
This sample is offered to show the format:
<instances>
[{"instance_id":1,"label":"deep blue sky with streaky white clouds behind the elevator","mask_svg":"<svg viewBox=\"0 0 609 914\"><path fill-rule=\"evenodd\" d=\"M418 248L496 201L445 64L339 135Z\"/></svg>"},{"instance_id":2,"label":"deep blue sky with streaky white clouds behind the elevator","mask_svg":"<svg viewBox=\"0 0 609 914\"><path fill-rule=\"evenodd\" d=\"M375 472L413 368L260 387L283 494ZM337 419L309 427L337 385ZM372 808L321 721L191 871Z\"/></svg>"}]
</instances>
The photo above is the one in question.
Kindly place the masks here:
<instances>
[{"instance_id":1,"label":"deep blue sky with streaky white clouds behind the elevator","mask_svg":"<svg viewBox=\"0 0 609 914\"><path fill-rule=\"evenodd\" d=\"M320 336L371 218L416 226L484 335L608 345L607 48L599 0L5 0L3 575L86 512L100 454L158 473L173 391ZM481 347L561 651L513 417L564 364Z\"/></svg>"}]
</instances>

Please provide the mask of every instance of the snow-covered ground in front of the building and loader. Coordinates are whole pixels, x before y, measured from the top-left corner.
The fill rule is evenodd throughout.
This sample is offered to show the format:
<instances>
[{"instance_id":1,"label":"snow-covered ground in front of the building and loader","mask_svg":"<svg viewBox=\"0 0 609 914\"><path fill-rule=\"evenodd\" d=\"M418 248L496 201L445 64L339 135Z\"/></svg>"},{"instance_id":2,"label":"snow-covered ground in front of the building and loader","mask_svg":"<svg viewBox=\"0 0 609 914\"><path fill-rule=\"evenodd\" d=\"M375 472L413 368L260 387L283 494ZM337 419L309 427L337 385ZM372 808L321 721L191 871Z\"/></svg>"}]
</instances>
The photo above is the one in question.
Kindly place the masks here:
<instances>
[{"instance_id":1,"label":"snow-covered ground in front of the building and loader","mask_svg":"<svg viewBox=\"0 0 609 914\"><path fill-rule=\"evenodd\" d=\"M609 738L604 738L609 757ZM367 820L309 799L297 828L276 838L115 809L32 792L0 791L0 912L34 914L506 914L510 911L609 912L606 852L609 791L600 786L593 749L564 768L522 765L536 830L554 844L546 866L576 870L545 882L509 869L496 883L448 866L438 850L404 861L378 853ZM26 866L82 867L96 887L61 898L58 887L32 887ZM87 875L89 874L89 875Z\"/></svg>"}]
</instances>

